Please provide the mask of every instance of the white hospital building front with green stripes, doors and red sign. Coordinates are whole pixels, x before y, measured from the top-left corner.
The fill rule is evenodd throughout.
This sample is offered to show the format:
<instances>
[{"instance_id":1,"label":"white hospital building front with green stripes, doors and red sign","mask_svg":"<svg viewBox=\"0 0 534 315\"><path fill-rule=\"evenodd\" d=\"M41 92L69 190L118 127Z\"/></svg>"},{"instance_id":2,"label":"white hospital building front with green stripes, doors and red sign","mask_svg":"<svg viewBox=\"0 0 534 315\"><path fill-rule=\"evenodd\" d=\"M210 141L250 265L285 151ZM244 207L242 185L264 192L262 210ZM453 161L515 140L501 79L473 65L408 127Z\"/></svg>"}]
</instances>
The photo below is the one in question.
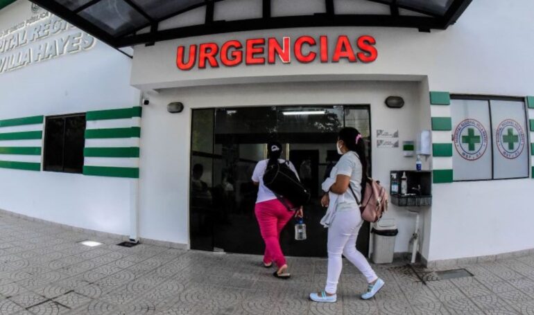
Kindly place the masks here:
<instances>
[{"instance_id":1,"label":"white hospital building front with green stripes, doors and red sign","mask_svg":"<svg viewBox=\"0 0 534 315\"><path fill-rule=\"evenodd\" d=\"M307 3L312 14L325 10L324 1ZM389 9L370 1L334 5L347 14ZM26 21L0 40L26 30L28 41L17 46L10 39L0 49L6 60L0 66L3 210L141 242L257 253L263 249L249 172L264 159L265 143L284 143L286 157L318 197L320 179L336 160L336 130L350 126L370 147L374 179L390 188L391 172L411 177L414 196L396 198L385 216L399 229L395 252L411 251L415 215L408 210L420 213L417 242L428 264L493 260L534 248L530 1L474 1L456 24L430 33L250 30L137 45L132 59L67 24L49 35L42 26L42 38L32 41L31 33L40 33L35 25L62 26L31 8L15 1L0 10L1 30ZM291 10L277 6L272 14ZM261 1L215 5L215 20L255 15ZM164 24L196 25L204 17L199 7ZM45 42L58 51L40 48ZM28 47L32 62L25 64ZM35 56L39 49L42 57ZM404 106L388 107L390 96ZM169 112L176 102L183 111ZM85 123L83 147L79 140L68 146L72 114ZM54 118L67 126L62 148L53 141ZM64 153L76 150L83 161ZM417 154L423 172L412 173ZM72 170L70 158L78 161ZM421 190L430 206L402 206L417 202ZM307 207L312 235L308 244L283 241L288 254L325 255L321 211L317 200ZM369 232L360 235L363 251Z\"/></svg>"}]
</instances>

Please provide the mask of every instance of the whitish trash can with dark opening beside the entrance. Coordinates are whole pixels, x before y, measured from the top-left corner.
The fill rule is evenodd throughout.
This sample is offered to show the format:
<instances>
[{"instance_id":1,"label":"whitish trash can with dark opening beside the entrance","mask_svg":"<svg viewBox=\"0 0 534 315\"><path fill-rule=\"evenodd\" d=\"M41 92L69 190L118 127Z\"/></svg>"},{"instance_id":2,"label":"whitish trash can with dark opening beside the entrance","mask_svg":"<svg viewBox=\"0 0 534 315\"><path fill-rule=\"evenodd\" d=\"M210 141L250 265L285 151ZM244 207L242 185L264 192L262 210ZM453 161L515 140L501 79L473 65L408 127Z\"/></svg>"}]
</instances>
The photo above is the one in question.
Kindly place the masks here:
<instances>
[{"instance_id":1,"label":"whitish trash can with dark opening beside the entrance","mask_svg":"<svg viewBox=\"0 0 534 315\"><path fill-rule=\"evenodd\" d=\"M395 252L395 238L399 233L394 219L381 219L373 224L372 262L375 264L390 264Z\"/></svg>"}]
</instances>

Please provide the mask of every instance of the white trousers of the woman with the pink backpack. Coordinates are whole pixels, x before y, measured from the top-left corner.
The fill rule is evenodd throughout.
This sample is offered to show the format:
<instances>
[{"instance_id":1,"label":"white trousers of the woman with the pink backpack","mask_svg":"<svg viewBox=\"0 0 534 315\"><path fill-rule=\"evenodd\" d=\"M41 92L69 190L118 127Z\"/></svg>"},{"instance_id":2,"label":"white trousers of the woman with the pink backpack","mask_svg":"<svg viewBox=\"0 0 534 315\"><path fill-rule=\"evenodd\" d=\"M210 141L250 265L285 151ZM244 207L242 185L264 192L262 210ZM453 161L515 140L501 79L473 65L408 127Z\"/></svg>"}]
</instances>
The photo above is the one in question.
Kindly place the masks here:
<instances>
[{"instance_id":1,"label":"white trousers of the woman with the pink backpack","mask_svg":"<svg viewBox=\"0 0 534 315\"><path fill-rule=\"evenodd\" d=\"M339 276L343 262L343 254L371 283L377 280L377 274L372 270L369 262L359 251L356 250L356 238L360 231L361 214L359 209L338 209L334 220L328 228L328 277L325 291L335 294L338 287Z\"/></svg>"}]
</instances>

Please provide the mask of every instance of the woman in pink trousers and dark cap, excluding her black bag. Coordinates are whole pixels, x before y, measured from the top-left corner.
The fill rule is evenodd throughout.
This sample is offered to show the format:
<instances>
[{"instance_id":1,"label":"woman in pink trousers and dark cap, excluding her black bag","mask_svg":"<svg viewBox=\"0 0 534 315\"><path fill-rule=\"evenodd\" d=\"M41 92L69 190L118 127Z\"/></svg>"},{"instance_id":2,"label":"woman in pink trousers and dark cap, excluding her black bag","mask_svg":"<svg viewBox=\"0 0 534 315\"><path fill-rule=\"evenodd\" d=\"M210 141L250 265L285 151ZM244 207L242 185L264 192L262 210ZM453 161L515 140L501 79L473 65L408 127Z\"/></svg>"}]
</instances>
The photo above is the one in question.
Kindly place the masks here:
<instances>
[{"instance_id":1,"label":"woman in pink trousers and dark cap, excluding her black bag","mask_svg":"<svg viewBox=\"0 0 534 315\"><path fill-rule=\"evenodd\" d=\"M273 276L287 279L291 275L288 273L286 258L280 246L280 232L282 232L282 229L293 215L302 217L302 207L297 211L289 210L284 204L291 206L291 203L288 200L284 200L284 204L282 204L282 201L279 200L275 193L264 185L263 177L267 166L286 162L280 159L282 155L282 145L280 143L268 143L267 147L269 159L259 161L252 174L252 181L256 186L259 186L255 214L261 237L265 242L264 267L271 267L274 262L277 266L277 271L273 273ZM288 164L289 168L298 177L293 163L288 162Z\"/></svg>"}]
</instances>

